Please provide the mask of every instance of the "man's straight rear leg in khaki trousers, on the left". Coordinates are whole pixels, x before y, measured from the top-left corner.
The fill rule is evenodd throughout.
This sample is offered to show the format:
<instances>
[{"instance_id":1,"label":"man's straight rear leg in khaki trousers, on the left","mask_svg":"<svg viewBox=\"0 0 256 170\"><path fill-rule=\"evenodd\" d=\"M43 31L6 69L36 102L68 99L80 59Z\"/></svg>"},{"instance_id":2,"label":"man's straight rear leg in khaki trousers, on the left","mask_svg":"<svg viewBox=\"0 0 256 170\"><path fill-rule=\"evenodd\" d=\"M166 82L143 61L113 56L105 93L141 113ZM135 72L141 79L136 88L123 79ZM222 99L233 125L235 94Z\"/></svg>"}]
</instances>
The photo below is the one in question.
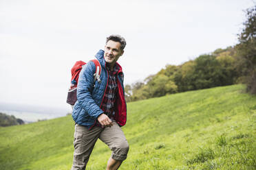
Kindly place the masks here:
<instances>
[{"instance_id":1,"label":"man's straight rear leg in khaki trousers, on the left","mask_svg":"<svg viewBox=\"0 0 256 170\"><path fill-rule=\"evenodd\" d=\"M75 125L72 170L85 169L92 149L94 149L94 145L102 131L101 127L93 127L92 130L88 130L83 125Z\"/></svg>"}]
</instances>

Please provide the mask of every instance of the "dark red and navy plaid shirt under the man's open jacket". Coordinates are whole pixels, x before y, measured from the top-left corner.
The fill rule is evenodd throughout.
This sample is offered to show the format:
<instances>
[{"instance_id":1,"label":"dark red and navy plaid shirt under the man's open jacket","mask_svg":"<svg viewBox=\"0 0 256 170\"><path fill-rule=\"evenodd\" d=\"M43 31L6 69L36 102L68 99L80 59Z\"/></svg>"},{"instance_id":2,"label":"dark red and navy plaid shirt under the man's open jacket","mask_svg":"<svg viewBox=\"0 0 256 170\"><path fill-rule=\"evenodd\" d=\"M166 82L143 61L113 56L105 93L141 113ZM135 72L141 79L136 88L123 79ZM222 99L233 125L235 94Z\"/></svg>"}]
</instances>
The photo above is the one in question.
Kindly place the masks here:
<instances>
[{"instance_id":1,"label":"dark red and navy plaid shirt under the man's open jacket","mask_svg":"<svg viewBox=\"0 0 256 170\"><path fill-rule=\"evenodd\" d=\"M106 64L106 68L109 74L109 80L107 83L107 89L106 89L105 95L103 97L103 104L101 105L100 108L104 111L104 114L107 114L107 116L110 119L113 119L116 94L118 93L118 82L116 80L117 79L116 74L118 73L119 67L116 64L114 66L114 71L111 71L109 68L109 65ZM101 126L98 120L96 125Z\"/></svg>"}]
</instances>

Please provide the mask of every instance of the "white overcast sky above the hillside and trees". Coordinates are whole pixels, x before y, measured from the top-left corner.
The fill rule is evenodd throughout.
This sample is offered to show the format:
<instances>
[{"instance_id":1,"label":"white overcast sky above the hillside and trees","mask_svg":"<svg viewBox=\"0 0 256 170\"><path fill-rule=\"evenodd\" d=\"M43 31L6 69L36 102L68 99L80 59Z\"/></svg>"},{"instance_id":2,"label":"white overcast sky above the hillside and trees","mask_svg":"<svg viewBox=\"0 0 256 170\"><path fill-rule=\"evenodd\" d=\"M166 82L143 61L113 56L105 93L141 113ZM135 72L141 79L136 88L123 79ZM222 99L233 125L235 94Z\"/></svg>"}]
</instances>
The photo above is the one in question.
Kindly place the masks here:
<instances>
[{"instance_id":1,"label":"white overcast sky above the hillside and trees","mask_svg":"<svg viewBox=\"0 0 256 170\"><path fill-rule=\"evenodd\" d=\"M70 69L127 40L125 84L237 43L252 0L0 0L0 102L69 108Z\"/></svg>"}]
</instances>

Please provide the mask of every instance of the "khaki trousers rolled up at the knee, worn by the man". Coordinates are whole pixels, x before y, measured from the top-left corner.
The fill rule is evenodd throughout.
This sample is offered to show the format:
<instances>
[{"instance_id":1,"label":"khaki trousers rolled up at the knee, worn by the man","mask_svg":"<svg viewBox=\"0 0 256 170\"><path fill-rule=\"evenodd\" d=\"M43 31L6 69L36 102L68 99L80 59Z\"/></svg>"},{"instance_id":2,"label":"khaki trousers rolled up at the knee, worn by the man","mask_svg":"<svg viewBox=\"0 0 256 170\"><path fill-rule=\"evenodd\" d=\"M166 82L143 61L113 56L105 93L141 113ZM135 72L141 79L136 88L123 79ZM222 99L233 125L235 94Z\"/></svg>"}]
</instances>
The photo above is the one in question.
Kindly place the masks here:
<instances>
[{"instance_id":1,"label":"khaki trousers rolled up at the knee, worn by the man","mask_svg":"<svg viewBox=\"0 0 256 170\"><path fill-rule=\"evenodd\" d=\"M114 160L125 160L129 150L129 145L116 121L113 121L111 127L93 127L88 130L82 125L75 125L74 132L74 160L72 170L85 169L89 156L94 149L96 141L100 138L111 149L111 158Z\"/></svg>"}]
</instances>

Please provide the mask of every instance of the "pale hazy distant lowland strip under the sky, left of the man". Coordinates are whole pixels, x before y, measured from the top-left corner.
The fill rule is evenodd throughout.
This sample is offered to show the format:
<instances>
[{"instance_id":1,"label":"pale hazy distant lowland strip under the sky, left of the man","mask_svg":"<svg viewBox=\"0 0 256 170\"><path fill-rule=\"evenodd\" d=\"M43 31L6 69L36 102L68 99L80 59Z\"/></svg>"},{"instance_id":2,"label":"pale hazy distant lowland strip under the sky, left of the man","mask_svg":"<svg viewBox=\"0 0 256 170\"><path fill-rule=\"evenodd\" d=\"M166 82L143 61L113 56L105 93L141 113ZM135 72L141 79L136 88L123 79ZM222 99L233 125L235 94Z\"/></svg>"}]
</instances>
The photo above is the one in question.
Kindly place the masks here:
<instances>
[{"instance_id":1,"label":"pale hazy distant lowland strip under the sky, left of the man","mask_svg":"<svg viewBox=\"0 0 256 170\"><path fill-rule=\"evenodd\" d=\"M71 109L0 103L0 112L8 115L14 115L14 117L22 119L25 123L31 123L44 119L65 117L67 113L71 112Z\"/></svg>"}]
</instances>

